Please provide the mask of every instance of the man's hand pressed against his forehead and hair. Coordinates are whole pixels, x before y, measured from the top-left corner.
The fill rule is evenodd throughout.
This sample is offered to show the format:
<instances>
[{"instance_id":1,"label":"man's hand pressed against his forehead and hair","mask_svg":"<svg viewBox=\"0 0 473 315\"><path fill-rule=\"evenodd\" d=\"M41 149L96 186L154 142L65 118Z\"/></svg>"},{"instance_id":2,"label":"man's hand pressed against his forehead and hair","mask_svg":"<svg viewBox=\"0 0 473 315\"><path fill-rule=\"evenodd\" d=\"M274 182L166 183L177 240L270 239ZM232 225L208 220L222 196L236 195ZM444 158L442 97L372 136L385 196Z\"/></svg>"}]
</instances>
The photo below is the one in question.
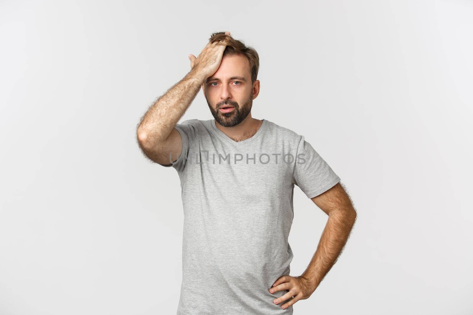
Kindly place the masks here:
<instances>
[{"instance_id":1,"label":"man's hand pressed against his forehead and hair","mask_svg":"<svg viewBox=\"0 0 473 315\"><path fill-rule=\"evenodd\" d=\"M230 35L230 32L225 32L225 34ZM205 78L210 77L220 67L223 51L226 47L227 42L225 40L214 43L209 42L197 58L193 54L188 56L189 60L191 60L191 69L201 73Z\"/></svg>"}]
</instances>

